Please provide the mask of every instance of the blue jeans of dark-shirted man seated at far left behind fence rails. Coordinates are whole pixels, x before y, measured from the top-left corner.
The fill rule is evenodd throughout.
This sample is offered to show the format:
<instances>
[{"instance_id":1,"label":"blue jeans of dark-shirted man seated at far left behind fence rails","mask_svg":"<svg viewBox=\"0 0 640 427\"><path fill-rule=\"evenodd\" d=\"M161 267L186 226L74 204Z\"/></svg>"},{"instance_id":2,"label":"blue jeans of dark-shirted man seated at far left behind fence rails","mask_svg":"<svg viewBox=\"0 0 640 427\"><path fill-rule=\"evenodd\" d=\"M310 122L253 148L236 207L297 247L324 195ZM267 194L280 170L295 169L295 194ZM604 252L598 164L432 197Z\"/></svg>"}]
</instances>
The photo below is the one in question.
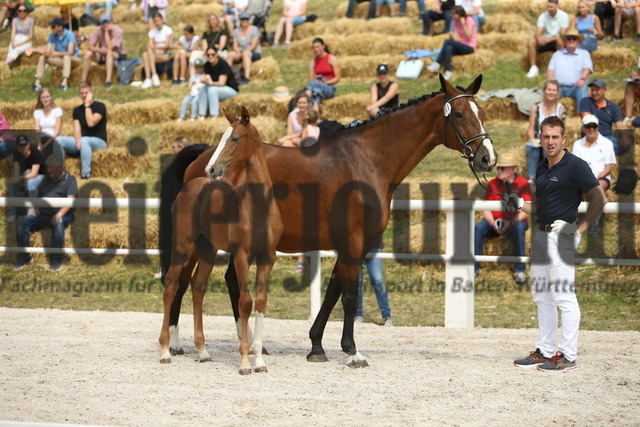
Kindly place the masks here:
<instances>
[{"instance_id":1,"label":"blue jeans of dark-shirted man seated at far left behind fence rails","mask_svg":"<svg viewBox=\"0 0 640 427\"><path fill-rule=\"evenodd\" d=\"M29 246L29 235L33 232L43 230L45 228L51 229L51 248L61 248L64 244L64 229L71 224L75 219L72 213L67 213L62 217L62 221L53 225L51 223L52 215L24 215L18 218L16 224L16 242L20 247ZM19 260L29 260L31 256L22 252L18 255ZM62 262L62 254L50 254L49 262L51 264Z\"/></svg>"}]
</instances>

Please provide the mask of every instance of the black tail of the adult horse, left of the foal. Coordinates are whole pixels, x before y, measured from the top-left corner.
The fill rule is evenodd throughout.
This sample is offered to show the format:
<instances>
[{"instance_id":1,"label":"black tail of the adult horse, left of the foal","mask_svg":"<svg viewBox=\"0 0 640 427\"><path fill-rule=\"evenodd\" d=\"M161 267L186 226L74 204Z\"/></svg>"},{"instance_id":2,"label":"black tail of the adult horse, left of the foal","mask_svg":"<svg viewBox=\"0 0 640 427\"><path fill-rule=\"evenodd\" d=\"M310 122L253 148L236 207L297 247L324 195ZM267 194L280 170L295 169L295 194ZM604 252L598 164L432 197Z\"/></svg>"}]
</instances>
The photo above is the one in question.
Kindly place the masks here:
<instances>
[{"instance_id":1,"label":"black tail of the adult horse, left of the foal","mask_svg":"<svg viewBox=\"0 0 640 427\"><path fill-rule=\"evenodd\" d=\"M184 186L182 180L187 167L202 154L209 145L187 145L162 172L160 180L160 229L158 247L160 248L160 267L162 279L171 265L171 241L173 238L173 219L171 209L178 193Z\"/></svg>"}]
</instances>

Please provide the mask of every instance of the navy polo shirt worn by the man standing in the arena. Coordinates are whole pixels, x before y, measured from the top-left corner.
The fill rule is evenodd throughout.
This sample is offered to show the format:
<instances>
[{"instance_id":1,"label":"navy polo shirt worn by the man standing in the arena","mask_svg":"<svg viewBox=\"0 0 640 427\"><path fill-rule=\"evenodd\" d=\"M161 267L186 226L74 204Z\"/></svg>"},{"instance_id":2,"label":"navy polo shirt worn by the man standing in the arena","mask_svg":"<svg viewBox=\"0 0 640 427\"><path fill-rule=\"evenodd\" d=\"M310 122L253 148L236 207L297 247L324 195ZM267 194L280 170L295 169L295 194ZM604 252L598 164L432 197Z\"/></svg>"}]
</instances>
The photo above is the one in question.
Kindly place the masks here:
<instances>
[{"instance_id":1,"label":"navy polo shirt worn by the man standing in the arena","mask_svg":"<svg viewBox=\"0 0 640 427\"><path fill-rule=\"evenodd\" d=\"M547 160L540 163L536 171L537 222L575 222L583 194L598 185L587 162L567 150L551 168Z\"/></svg>"}]
</instances>

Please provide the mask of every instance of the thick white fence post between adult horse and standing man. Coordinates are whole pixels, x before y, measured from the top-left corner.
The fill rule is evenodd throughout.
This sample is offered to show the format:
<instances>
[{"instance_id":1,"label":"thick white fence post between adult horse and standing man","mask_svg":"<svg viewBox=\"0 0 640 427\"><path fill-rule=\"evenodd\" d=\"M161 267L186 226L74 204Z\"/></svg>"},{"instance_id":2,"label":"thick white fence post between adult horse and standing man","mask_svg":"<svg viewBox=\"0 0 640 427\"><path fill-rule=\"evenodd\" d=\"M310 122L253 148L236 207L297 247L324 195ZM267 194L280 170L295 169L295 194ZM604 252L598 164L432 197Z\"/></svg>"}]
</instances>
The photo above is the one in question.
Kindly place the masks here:
<instances>
[{"instance_id":1,"label":"thick white fence post between adult horse and standing man","mask_svg":"<svg viewBox=\"0 0 640 427\"><path fill-rule=\"evenodd\" d=\"M444 326L474 327L473 210L447 212Z\"/></svg>"}]
</instances>

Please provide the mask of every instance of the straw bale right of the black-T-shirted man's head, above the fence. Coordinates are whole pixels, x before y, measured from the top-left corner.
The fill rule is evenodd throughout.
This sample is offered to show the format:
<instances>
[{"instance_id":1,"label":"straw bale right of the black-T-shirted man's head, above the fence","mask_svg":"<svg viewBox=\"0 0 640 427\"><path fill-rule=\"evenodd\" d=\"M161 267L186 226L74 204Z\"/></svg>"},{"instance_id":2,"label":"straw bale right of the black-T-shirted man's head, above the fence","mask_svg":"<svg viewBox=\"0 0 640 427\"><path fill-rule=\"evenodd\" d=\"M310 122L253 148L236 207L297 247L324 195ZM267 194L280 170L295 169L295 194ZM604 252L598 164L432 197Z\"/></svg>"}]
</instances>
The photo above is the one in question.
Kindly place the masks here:
<instances>
[{"instance_id":1,"label":"straw bale right of the black-T-shirted man's head, above the fence","mask_svg":"<svg viewBox=\"0 0 640 427\"><path fill-rule=\"evenodd\" d=\"M181 98L143 99L107 108L109 120L120 125L162 123L175 119L180 111Z\"/></svg>"}]
</instances>

